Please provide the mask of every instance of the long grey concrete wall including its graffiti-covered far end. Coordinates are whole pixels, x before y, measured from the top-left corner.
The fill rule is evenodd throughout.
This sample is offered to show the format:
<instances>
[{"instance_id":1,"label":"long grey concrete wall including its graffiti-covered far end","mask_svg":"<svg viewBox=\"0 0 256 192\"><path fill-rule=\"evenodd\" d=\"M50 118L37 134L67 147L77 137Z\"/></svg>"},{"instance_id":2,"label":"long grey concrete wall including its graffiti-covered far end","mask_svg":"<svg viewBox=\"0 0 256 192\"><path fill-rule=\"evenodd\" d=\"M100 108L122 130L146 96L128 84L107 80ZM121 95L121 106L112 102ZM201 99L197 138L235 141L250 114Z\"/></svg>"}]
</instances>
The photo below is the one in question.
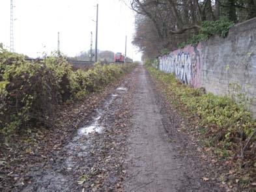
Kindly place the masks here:
<instances>
[{"instance_id":1,"label":"long grey concrete wall including its graffiti-covered far end","mask_svg":"<svg viewBox=\"0 0 256 192\"><path fill-rule=\"evenodd\" d=\"M256 18L235 25L227 38L215 36L197 47L186 46L160 57L160 70L182 83L225 95L238 85L256 117Z\"/></svg>"}]
</instances>

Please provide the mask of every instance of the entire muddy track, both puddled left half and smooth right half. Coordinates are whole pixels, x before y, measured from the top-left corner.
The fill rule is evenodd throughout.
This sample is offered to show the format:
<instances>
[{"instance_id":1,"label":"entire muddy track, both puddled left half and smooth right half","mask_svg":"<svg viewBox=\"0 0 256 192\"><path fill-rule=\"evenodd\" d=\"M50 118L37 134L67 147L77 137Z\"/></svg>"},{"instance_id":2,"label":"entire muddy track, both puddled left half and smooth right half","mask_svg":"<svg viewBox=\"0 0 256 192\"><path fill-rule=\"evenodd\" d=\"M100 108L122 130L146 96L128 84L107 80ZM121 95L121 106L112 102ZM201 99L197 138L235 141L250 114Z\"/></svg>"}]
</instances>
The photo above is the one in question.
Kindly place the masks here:
<instances>
[{"instance_id":1,"label":"entire muddy track, both puddled left half and smooth right half","mask_svg":"<svg viewBox=\"0 0 256 192\"><path fill-rule=\"evenodd\" d=\"M143 66L96 106L48 161L28 162L11 191L222 191L202 180L210 169Z\"/></svg>"}]
</instances>

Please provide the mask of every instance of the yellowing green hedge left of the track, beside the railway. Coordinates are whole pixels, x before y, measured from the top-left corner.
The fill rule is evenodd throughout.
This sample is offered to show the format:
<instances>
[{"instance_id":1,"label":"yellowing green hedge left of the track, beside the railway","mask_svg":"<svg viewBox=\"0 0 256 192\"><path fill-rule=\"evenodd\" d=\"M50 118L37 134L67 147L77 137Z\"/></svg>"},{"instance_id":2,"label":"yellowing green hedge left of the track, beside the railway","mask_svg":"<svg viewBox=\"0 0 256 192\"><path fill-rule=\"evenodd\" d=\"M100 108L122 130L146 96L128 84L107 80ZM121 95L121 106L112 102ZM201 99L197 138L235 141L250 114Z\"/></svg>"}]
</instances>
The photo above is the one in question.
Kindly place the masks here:
<instances>
[{"instance_id":1,"label":"yellowing green hedge left of the track, beside the railway","mask_svg":"<svg viewBox=\"0 0 256 192\"><path fill-rule=\"evenodd\" d=\"M27 62L23 55L1 48L0 134L7 138L28 126L51 126L59 105L102 89L132 68L131 64L96 64L74 72L63 57Z\"/></svg>"}]
</instances>

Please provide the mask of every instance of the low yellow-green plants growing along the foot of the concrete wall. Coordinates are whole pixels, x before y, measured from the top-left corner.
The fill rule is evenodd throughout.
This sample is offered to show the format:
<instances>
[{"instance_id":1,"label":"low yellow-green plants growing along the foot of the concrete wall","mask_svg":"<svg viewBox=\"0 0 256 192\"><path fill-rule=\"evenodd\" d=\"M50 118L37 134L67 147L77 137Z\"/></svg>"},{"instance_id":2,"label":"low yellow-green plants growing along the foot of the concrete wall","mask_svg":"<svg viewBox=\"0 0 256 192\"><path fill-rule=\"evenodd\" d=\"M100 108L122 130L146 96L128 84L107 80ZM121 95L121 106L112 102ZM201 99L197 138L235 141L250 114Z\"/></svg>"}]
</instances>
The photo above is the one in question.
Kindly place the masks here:
<instances>
[{"instance_id":1,"label":"low yellow-green plants growing along the foot of the concrete wall","mask_svg":"<svg viewBox=\"0 0 256 192\"><path fill-rule=\"evenodd\" d=\"M177 81L173 74L165 74L152 67L149 67L149 72L164 85L169 102L194 114L193 117L198 119L199 133L212 146L220 148L221 152L219 150L218 153L222 158L234 154L240 156L241 146L245 145L256 128L256 120L251 118L244 104L236 103L231 96L215 96L205 94L201 89L192 89ZM253 151L255 141L256 137L251 139L246 152L247 158ZM252 158L255 159L255 156Z\"/></svg>"}]
</instances>

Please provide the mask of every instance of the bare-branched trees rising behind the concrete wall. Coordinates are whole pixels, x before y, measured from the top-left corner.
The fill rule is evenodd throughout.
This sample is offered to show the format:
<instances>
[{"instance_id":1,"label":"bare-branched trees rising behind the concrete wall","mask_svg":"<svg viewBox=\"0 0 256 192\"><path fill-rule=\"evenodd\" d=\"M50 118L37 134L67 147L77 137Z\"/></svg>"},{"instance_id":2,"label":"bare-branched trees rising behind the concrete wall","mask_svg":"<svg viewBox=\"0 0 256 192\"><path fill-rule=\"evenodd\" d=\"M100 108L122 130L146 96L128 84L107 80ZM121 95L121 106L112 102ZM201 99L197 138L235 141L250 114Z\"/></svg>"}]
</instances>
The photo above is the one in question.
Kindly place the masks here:
<instances>
[{"instance_id":1,"label":"bare-branched trees rising behind the concrete wall","mask_svg":"<svg viewBox=\"0 0 256 192\"><path fill-rule=\"evenodd\" d=\"M136 12L133 44L143 57L177 49L198 34L204 21L233 23L256 16L256 0L127 0Z\"/></svg>"}]
</instances>

